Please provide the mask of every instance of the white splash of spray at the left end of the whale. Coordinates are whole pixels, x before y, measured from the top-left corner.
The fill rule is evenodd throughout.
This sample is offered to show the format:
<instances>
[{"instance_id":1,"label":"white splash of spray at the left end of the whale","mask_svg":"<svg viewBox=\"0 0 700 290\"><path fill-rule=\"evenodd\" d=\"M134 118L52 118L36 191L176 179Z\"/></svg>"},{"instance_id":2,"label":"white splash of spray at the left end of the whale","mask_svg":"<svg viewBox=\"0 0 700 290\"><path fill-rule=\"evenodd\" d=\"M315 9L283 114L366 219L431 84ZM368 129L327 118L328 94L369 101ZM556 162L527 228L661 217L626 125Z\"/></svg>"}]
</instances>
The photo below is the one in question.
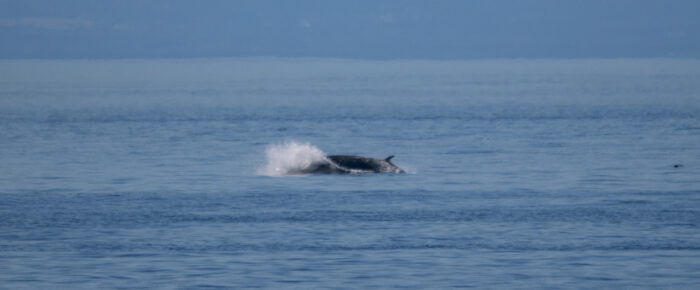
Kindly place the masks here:
<instances>
[{"instance_id":1,"label":"white splash of spray at the left end of the whale","mask_svg":"<svg viewBox=\"0 0 700 290\"><path fill-rule=\"evenodd\" d=\"M267 164L258 170L258 174L266 176L300 174L327 160L326 154L316 146L295 141L270 145L265 150L265 155Z\"/></svg>"}]
</instances>

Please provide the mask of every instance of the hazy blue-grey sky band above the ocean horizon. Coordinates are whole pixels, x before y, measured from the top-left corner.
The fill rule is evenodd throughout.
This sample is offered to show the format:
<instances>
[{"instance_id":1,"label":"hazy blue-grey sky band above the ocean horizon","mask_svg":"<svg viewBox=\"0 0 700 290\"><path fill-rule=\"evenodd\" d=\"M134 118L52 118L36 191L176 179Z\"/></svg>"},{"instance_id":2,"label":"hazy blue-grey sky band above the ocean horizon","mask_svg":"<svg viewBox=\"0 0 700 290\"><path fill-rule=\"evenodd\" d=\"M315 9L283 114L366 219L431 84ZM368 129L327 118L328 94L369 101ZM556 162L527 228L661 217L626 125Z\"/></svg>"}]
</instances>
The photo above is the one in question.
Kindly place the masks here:
<instances>
[{"instance_id":1,"label":"hazy blue-grey sky band above the ocean horizon","mask_svg":"<svg viewBox=\"0 0 700 290\"><path fill-rule=\"evenodd\" d=\"M0 58L698 57L700 1L5 1Z\"/></svg>"}]
</instances>

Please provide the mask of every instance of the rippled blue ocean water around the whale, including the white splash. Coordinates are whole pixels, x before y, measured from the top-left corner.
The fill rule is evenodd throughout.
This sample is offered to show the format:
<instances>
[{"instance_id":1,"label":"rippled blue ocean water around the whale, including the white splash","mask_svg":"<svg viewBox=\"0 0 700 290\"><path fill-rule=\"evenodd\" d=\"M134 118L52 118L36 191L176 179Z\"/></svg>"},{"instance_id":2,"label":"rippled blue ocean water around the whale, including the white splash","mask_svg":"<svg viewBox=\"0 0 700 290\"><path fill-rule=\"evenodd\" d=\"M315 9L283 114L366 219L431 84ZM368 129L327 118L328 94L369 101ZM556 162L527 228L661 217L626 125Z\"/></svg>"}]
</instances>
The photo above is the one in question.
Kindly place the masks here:
<instances>
[{"instance_id":1,"label":"rippled blue ocean water around the whale, including the white splash","mask_svg":"<svg viewBox=\"0 0 700 290\"><path fill-rule=\"evenodd\" d=\"M0 288L698 285L699 60L0 61Z\"/></svg>"}]
</instances>

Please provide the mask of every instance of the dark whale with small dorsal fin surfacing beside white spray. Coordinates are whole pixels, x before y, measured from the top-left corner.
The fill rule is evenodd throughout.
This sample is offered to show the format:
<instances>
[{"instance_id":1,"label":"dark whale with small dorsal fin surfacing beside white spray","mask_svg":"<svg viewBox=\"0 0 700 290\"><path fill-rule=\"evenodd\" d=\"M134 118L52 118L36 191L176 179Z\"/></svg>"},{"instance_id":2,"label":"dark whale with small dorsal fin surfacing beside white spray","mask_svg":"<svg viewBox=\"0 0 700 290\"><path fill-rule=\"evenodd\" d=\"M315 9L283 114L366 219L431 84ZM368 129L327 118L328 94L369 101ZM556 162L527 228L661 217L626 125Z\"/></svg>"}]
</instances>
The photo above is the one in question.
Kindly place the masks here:
<instances>
[{"instance_id":1,"label":"dark whale with small dorsal fin surfacing beside white spray","mask_svg":"<svg viewBox=\"0 0 700 290\"><path fill-rule=\"evenodd\" d=\"M391 163L391 155L375 159L353 155L329 155L323 161L311 164L306 172L312 174L363 174L363 173L406 173Z\"/></svg>"}]
</instances>

